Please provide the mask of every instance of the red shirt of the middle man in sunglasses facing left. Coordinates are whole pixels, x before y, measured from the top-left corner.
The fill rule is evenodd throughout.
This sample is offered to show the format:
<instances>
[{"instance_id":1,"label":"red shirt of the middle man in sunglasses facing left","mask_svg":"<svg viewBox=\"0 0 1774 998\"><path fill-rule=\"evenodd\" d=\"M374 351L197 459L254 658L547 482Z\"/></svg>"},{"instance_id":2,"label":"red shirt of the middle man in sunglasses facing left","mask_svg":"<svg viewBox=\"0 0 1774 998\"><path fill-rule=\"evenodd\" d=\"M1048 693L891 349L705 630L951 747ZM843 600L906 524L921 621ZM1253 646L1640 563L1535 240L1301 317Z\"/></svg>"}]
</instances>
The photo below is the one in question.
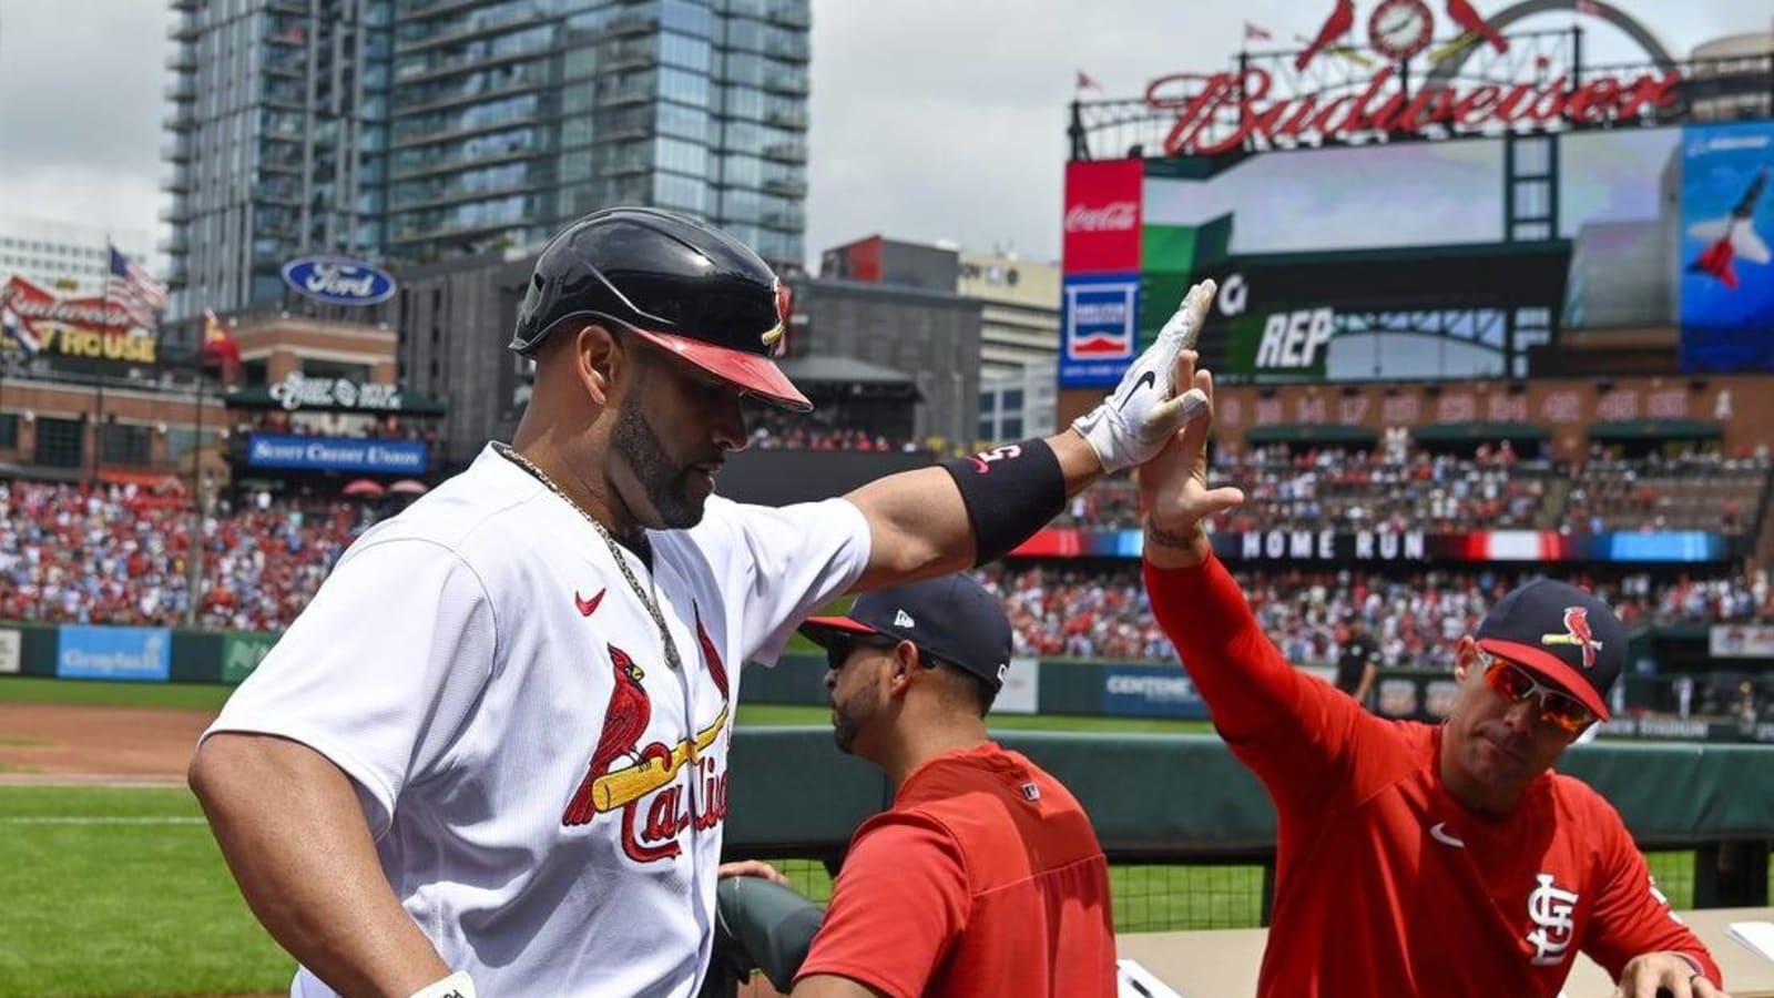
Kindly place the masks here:
<instances>
[{"instance_id":1,"label":"red shirt of the middle man in sunglasses facing left","mask_svg":"<svg viewBox=\"0 0 1774 998\"><path fill-rule=\"evenodd\" d=\"M1084 808L997 744L926 762L857 828L797 978L896 998L1114 998L1109 865Z\"/></svg>"}]
</instances>

